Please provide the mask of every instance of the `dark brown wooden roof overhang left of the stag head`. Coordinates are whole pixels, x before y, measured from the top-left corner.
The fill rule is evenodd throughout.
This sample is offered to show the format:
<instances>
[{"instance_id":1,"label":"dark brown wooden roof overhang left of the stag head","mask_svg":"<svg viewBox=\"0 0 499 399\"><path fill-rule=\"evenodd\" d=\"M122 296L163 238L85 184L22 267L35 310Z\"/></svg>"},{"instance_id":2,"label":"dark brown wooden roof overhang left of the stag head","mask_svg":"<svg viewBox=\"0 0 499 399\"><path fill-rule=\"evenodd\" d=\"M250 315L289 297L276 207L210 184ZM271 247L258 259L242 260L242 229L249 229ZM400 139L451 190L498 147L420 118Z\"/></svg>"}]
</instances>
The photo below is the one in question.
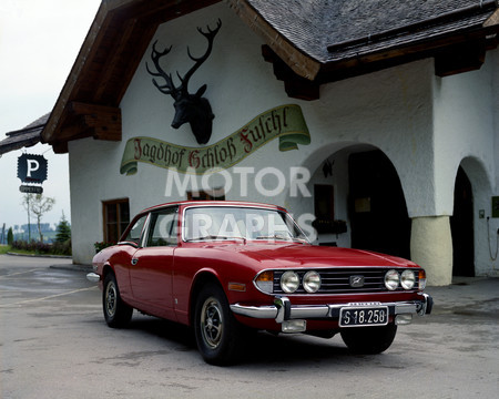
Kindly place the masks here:
<instances>
[{"instance_id":1,"label":"dark brown wooden roof overhang left of the stag head","mask_svg":"<svg viewBox=\"0 0 499 399\"><path fill-rule=\"evenodd\" d=\"M83 137L121 141L119 104L157 27L220 0L103 0L50 114L55 153Z\"/></svg>"}]
</instances>

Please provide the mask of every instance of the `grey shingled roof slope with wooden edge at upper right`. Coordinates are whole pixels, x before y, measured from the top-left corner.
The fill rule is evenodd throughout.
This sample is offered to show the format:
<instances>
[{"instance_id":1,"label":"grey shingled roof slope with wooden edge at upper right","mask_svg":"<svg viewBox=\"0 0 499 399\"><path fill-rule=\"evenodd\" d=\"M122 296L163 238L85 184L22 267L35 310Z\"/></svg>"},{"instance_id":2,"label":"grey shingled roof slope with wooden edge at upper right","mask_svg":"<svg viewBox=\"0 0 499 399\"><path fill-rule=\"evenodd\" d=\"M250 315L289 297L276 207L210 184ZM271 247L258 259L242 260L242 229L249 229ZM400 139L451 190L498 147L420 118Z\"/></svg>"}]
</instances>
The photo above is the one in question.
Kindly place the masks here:
<instances>
[{"instance_id":1,"label":"grey shingled roof slope with wooden edge at upper right","mask_svg":"<svg viewBox=\"0 0 499 399\"><path fill-rule=\"evenodd\" d=\"M228 2L294 72L320 82L336 80L332 71L355 63L434 57L444 47L487 35L488 47L497 44L495 0Z\"/></svg>"}]
</instances>

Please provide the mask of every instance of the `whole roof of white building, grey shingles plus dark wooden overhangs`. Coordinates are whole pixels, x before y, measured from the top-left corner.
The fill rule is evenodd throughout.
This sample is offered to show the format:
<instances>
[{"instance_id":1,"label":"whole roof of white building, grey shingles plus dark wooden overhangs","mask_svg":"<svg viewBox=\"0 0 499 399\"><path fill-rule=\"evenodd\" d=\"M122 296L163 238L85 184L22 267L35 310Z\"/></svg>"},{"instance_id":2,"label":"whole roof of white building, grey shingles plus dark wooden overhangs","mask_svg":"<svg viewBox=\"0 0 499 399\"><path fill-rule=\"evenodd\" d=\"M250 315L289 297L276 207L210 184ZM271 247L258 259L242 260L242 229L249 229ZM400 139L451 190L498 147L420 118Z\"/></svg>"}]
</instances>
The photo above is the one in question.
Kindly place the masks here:
<instances>
[{"instance_id":1,"label":"whole roof of white building, grey shingles plus dark wooden overhangs","mask_svg":"<svg viewBox=\"0 0 499 399\"><path fill-rule=\"evenodd\" d=\"M43 129L68 141L121 140L120 102L156 28L220 0L103 0ZM495 0L225 0L263 42L289 96L422 58L440 76L480 68L497 47Z\"/></svg>"}]
</instances>

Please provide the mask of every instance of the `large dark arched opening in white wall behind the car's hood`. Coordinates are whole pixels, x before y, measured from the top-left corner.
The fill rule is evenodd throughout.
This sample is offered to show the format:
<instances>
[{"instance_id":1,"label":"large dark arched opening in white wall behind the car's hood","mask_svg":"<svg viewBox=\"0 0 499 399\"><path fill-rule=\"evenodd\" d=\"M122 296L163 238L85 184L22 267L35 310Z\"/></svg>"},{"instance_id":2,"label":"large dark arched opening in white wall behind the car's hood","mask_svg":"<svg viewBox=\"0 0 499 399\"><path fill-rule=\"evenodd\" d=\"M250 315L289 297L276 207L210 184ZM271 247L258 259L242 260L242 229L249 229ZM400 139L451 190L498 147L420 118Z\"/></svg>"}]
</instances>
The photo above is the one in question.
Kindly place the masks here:
<instances>
[{"instance_id":1,"label":"large dark arched opening in white wall behind the car's hood","mask_svg":"<svg viewBox=\"0 0 499 399\"><path fill-rule=\"evenodd\" d=\"M312 161L310 192L319 245L410 257L410 228L398 173L387 155L367 144L332 147ZM312 166L312 165L310 165Z\"/></svg>"}]
</instances>

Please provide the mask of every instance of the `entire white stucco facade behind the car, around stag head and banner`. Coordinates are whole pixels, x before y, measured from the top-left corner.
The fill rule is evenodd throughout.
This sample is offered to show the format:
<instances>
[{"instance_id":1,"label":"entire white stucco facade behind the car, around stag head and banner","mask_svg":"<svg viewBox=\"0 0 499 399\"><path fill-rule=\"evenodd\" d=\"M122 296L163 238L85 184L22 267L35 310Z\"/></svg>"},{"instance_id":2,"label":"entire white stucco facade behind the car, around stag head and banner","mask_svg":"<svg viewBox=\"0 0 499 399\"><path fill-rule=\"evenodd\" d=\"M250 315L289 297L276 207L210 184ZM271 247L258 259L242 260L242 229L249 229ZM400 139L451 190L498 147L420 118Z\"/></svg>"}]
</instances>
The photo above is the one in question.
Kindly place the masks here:
<instances>
[{"instance_id":1,"label":"entire white stucco facade behind the car, around stag head and banner","mask_svg":"<svg viewBox=\"0 0 499 399\"><path fill-rule=\"evenodd\" d=\"M187 45L194 55L203 53L206 47L196 27L205 28L210 23L214 28L218 18L223 25L212 55L190 82L191 92L207 84L205 96L215 114L210 144L258 114L289 103L301 105L312 137L309 145L289 152L279 152L275 140L235 166L254 167L255 173L273 166L283 171L286 178L291 167L305 166L313 176L310 192L314 183L327 182L335 186L335 216L347 222L347 155L349 149L359 145L379 149L389 157L413 218L451 215L454 181L462 158L480 160L477 164L481 165L482 175L489 176L482 180L496 184L498 171L491 141L497 135L493 110L498 109L499 101L490 89L493 82L497 85L498 79L492 58L478 72L445 79L435 76L431 59L421 60L325 84L319 100L306 102L287 98L284 83L276 80L272 64L262 58L263 42L225 3L218 3L159 28L153 39L159 40L159 49L173 44L162 63L164 69L173 75L176 71L184 74L192 65ZM173 99L160 93L151 82L145 70L150 51L149 48L121 102L122 141L85 139L70 143L71 218L73 226L78 226L73 228L75 263L90 263L93 243L102 241L102 201L129 197L133 215L153 204L185 200L184 193L165 196L167 170L139 163L135 175L120 174L124 146L131 137L150 136L197 146L189 125L171 127ZM326 158L335 160L334 176L329 180L320 171ZM220 177L211 180L213 187L221 185ZM254 188L253 177L254 174L248 180L248 197L241 195L246 187L241 187L241 180L234 176L226 198L284 205L295 216L314 212L312 197L291 197L286 191L265 196ZM269 187L276 184L272 176L267 183ZM476 193L480 193L476 206L486 207L490 190L477 188ZM476 239L481 241L482 234L477 234ZM348 234L337 238L339 245L349 246ZM482 253L480 248L477 257L482 257ZM477 265L480 270L490 268L489 262L479 260Z\"/></svg>"}]
</instances>

